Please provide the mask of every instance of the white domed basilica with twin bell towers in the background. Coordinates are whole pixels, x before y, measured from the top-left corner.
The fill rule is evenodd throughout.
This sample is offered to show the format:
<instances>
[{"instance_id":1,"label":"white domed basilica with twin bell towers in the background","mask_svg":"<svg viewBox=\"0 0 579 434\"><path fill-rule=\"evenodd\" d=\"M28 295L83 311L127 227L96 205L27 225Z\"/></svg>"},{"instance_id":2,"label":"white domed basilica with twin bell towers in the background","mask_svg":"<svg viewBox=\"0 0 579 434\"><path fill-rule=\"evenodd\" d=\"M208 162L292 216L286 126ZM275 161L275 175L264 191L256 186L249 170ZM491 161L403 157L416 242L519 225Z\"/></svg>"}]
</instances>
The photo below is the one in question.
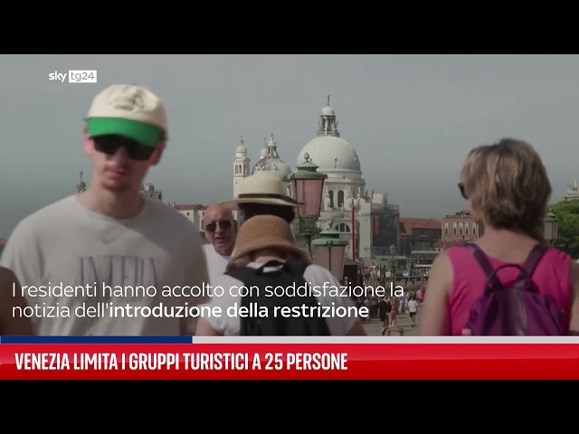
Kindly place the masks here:
<instances>
[{"instance_id":1,"label":"white domed basilica with twin bell towers in the background","mask_svg":"<svg viewBox=\"0 0 579 434\"><path fill-rule=\"evenodd\" d=\"M329 96L318 115L316 136L299 151L296 164L302 164L307 158L318 165L318 172L327 175L318 220L320 229L326 229L328 222L333 222L341 237L350 241L346 249L350 259L373 259L376 255L389 254L389 247L398 245L399 206L388 203L386 193L376 193L374 189L366 191L360 159L354 146L340 137L336 112L329 104ZM234 197L239 182L259 171L278 176L291 195L292 170L280 158L273 134L265 140L260 160L251 170L250 164L247 146L242 139L233 160ZM354 251L352 241L356 246Z\"/></svg>"}]
</instances>

